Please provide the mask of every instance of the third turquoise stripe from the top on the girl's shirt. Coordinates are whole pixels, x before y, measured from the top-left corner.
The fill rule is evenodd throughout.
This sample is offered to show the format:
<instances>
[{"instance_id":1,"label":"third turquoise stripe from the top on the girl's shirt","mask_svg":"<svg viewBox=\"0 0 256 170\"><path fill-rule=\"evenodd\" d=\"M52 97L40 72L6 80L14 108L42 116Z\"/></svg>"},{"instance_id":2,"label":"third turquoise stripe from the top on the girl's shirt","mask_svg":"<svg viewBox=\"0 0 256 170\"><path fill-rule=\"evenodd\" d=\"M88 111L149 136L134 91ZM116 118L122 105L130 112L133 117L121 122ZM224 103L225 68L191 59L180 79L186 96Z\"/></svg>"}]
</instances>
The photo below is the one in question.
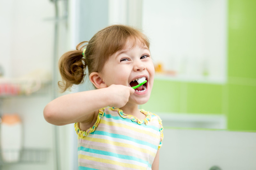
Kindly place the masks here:
<instances>
[{"instance_id":1,"label":"third turquoise stripe from the top on the girl's shirt","mask_svg":"<svg viewBox=\"0 0 256 170\"><path fill-rule=\"evenodd\" d=\"M90 148L85 148L83 146L80 146L79 149L81 151L84 151L84 152L90 152L90 153L97 153L97 154L101 154L101 155L113 156L113 157L116 157L116 158L126 159L126 160L134 160L134 161L146 164L149 167L151 167L151 165L148 163L148 161L145 161L143 159L140 159L140 158L137 158L137 157L134 157L134 156L121 155L121 154L117 154L117 153L113 153L113 152L90 149Z\"/></svg>"}]
</instances>

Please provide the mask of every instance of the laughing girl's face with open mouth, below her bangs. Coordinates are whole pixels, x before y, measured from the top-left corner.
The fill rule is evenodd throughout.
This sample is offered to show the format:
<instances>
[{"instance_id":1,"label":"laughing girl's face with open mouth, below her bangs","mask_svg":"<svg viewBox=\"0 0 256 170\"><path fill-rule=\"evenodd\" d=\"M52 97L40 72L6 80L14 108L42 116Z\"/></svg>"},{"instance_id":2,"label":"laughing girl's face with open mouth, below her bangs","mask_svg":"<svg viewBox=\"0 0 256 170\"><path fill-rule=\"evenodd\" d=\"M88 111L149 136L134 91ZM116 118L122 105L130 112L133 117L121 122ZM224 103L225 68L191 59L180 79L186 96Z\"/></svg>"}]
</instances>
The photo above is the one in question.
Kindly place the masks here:
<instances>
[{"instance_id":1,"label":"laughing girl's face with open mouth, below her bangs","mask_svg":"<svg viewBox=\"0 0 256 170\"><path fill-rule=\"evenodd\" d=\"M147 46L143 46L139 41L132 47L127 41L124 49L111 55L102 70L102 79L107 86L112 84L135 86L138 85L133 80L146 77L147 83L135 89L129 98L129 103L144 104L149 100L153 87L155 69Z\"/></svg>"}]
</instances>

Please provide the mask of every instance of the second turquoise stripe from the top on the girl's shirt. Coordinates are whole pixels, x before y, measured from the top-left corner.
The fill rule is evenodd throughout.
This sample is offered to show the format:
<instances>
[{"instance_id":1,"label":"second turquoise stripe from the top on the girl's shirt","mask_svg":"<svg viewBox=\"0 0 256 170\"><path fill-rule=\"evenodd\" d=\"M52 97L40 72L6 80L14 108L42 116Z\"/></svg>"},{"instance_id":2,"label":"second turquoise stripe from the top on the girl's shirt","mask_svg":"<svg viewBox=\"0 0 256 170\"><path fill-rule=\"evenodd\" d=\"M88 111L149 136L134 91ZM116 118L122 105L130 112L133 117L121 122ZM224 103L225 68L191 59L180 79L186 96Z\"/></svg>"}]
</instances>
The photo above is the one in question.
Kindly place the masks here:
<instances>
[{"instance_id":1,"label":"second turquoise stripe from the top on the girl's shirt","mask_svg":"<svg viewBox=\"0 0 256 170\"><path fill-rule=\"evenodd\" d=\"M115 134L115 133L109 133L109 132L100 131L100 130L95 130L91 134L104 135L104 136L109 136L109 137L118 138L118 139L125 139L125 140L135 142L137 144L143 144L143 145L149 146L153 149L157 149L157 147L158 147L154 144L151 144L151 143L146 142L146 141L138 140L138 139L135 139L133 137L128 137L128 136L125 136L125 135L118 135L118 134Z\"/></svg>"}]
</instances>

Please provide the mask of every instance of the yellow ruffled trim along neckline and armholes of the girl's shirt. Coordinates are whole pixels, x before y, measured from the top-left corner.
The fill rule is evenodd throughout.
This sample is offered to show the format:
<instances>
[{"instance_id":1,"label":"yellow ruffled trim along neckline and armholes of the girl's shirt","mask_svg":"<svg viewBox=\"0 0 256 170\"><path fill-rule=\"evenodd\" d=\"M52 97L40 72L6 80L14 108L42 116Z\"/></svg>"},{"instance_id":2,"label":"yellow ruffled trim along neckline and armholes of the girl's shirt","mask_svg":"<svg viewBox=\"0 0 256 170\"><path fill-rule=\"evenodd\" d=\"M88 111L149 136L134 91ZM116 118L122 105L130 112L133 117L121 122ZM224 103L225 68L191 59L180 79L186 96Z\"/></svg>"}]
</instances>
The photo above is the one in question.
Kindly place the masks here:
<instances>
[{"instance_id":1,"label":"yellow ruffled trim along neckline and armholes of the girl's shirt","mask_svg":"<svg viewBox=\"0 0 256 170\"><path fill-rule=\"evenodd\" d=\"M104 108L101 108L100 110L99 110L99 114L98 114L98 116L97 116L97 120L96 120L96 122L94 123L94 125L90 128L90 129L87 129L86 131L83 131L83 130L81 130L80 128L79 128L79 123L75 123L75 130L76 130L76 134L79 136L79 137L81 137L81 138L83 138L83 137L85 137L85 136L88 136L90 133L92 133L92 132L94 132L95 131L95 129L98 127L98 125L99 125L99 122L100 122L100 118L104 115L104 112L103 112L103 110L105 109L106 107L104 107ZM158 115L156 115L156 114L153 114L153 113L150 113L150 112L147 112L147 111L145 111L145 110L143 110L143 109L139 109L139 111L141 112L141 113L143 113L144 115L146 115L146 118L145 119L142 119L142 120L140 120L140 119L138 119L138 118L136 118L135 116L132 116L132 115L127 115L127 114L124 114L124 112L123 112L123 110L121 110L121 109L119 109L119 108L116 108L116 107L110 107L112 110L115 110L115 111L117 111L118 113L119 113L119 115L122 117L122 118L124 118L124 119L131 119L132 120L132 122L137 122L138 124L148 124L148 122L150 122L151 121L151 114L152 115L155 115L157 118L158 118L158 122L159 122L159 125L160 125L160 143L159 143L159 145L158 145L158 149L160 149L161 148L161 146L162 146L162 141L163 141L163 138L164 138L164 134L163 134L163 124L162 124L162 120L161 120L161 118L158 116Z\"/></svg>"}]
</instances>

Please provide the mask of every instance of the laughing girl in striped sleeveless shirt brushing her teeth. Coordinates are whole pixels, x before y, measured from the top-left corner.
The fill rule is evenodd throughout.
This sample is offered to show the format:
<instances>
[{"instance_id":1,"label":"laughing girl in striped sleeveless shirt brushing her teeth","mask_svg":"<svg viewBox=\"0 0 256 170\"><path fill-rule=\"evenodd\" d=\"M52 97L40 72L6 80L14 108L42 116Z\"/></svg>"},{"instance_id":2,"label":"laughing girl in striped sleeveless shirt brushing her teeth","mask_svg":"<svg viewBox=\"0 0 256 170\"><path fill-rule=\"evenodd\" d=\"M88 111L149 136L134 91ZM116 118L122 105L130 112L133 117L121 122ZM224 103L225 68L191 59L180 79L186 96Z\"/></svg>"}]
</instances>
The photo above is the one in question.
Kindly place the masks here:
<instances>
[{"instance_id":1,"label":"laughing girl in striped sleeveless shirt brushing her teeth","mask_svg":"<svg viewBox=\"0 0 256 170\"><path fill-rule=\"evenodd\" d=\"M62 88L82 83L87 66L96 89L52 100L44 108L45 120L75 123L79 169L158 169L162 120L138 109L149 100L154 81L148 38L130 26L114 25L86 42L60 58ZM138 79L147 82L133 89Z\"/></svg>"}]
</instances>

